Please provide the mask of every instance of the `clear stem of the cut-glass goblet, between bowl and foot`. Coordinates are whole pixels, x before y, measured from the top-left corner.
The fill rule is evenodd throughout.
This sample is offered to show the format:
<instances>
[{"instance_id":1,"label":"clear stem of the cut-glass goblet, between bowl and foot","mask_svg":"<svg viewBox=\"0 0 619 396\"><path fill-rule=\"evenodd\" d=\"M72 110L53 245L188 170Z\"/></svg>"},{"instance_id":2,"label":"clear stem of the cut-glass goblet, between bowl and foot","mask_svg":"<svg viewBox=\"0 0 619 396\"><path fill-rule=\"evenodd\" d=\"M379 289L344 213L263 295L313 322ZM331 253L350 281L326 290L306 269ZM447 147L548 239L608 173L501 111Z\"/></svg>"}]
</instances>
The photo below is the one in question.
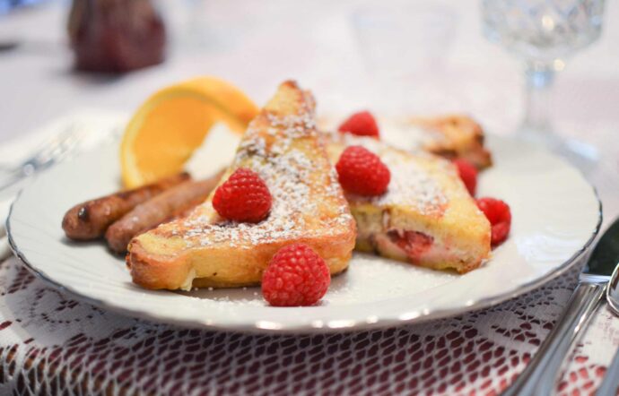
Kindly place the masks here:
<instances>
[{"instance_id":1,"label":"clear stem of the cut-glass goblet, between bowl and foot","mask_svg":"<svg viewBox=\"0 0 619 396\"><path fill-rule=\"evenodd\" d=\"M551 90L554 72L552 63L527 62L525 69L527 102L523 124L525 130L529 133L548 133L551 131Z\"/></svg>"}]
</instances>

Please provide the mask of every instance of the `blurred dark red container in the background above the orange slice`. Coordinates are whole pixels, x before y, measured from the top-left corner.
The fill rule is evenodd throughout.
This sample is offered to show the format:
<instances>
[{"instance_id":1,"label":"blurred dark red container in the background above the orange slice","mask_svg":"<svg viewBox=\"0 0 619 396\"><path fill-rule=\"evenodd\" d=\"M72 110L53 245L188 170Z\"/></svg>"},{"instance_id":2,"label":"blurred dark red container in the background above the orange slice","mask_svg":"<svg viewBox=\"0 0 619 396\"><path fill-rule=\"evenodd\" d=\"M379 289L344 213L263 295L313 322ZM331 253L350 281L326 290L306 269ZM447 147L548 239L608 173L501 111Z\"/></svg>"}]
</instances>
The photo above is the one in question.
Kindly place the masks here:
<instances>
[{"instance_id":1,"label":"blurred dark red container in the background above the orange slice","mask_svg":"<svg viewBox=\"0 0 619 396\"><path fill-rule=\"evenodd\" d=\"M78 70L125 73L165 56L165 27L151 0L74 0L68 32Z\"/></svg>"}]
</instances>

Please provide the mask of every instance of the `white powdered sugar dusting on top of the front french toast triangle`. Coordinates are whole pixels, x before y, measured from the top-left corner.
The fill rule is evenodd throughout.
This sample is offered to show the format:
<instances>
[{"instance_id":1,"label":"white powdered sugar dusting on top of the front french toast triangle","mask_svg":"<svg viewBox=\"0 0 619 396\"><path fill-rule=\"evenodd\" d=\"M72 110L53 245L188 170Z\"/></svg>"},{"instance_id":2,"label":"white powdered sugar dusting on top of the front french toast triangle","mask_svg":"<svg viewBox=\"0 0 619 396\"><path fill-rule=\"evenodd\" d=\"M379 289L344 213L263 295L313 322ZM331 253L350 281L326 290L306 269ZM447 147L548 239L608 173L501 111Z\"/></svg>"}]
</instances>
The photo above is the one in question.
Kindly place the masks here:
<instances>
[{"instance_id":1,"label":"white powdered sugar dusting on top of the front french toast triangle","mask_svg":"<svg viewBox=\"0 0 619 396\"><path fill-rule=\"evenodd\" d=\"M307 109L306 109L307 110ZM307 139L306 139L307 138ZM353 224L335 170L316 142L310 111L298 116L266 116L253 122L234 159L233 168L250 168L261 176L273 196L266 220L257 224L220 219L209 201L180 224L190 245L217 245L249 249L282 239L337 235ZM336 207L336 216L325 216ZM319 227L311 227L319 220ZM318 223L317 223L318 224ZM172 231L174 232L174 231Z\"/></svg>"}]
</instances>

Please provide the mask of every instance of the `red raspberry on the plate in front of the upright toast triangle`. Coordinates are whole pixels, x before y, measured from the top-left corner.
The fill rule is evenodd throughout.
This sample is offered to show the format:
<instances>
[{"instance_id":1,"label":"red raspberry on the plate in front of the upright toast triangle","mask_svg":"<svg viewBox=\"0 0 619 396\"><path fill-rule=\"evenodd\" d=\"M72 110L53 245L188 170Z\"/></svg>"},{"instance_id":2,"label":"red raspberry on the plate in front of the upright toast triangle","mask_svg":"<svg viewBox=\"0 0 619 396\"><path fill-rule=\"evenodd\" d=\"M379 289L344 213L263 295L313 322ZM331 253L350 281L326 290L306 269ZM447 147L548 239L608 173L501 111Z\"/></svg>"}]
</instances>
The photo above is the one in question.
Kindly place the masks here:
<instances>
[{"instance_id":1,"label":"red raspberry on the plate in front of the upright toast triangle","mask_svg":"<svg viewBox=\"0 0 619 396\"><path fill-rule=\"evenodd\" d=\"M272 306L312 306L327 293L331 274L311 247L282 247L262 276L262 295Z\"/></svg>"}]
</instances>

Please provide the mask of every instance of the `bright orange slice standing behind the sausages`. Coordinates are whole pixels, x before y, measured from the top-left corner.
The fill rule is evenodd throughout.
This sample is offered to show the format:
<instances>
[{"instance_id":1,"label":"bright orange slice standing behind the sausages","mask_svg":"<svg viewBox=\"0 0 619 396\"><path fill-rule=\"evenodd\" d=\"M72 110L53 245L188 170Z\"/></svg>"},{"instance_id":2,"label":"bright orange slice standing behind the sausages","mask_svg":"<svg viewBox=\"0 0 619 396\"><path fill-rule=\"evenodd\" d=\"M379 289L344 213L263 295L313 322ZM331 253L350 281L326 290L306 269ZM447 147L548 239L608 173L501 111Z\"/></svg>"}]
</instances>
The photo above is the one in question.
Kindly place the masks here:
<instances>
[{"instance_id":1,"label":"bright orange slice standing behind the sausages","mask_svg":"<svg viewBox=\"0 0 619 396\"><path fill-rule=\"evenodd\" d=\"M127 188L179 173L211 126L222 122L243 133L258 108L241 90L215 77L200 77L157 91L126 125L120 145Z\"/></svg>"}]
</instances>

